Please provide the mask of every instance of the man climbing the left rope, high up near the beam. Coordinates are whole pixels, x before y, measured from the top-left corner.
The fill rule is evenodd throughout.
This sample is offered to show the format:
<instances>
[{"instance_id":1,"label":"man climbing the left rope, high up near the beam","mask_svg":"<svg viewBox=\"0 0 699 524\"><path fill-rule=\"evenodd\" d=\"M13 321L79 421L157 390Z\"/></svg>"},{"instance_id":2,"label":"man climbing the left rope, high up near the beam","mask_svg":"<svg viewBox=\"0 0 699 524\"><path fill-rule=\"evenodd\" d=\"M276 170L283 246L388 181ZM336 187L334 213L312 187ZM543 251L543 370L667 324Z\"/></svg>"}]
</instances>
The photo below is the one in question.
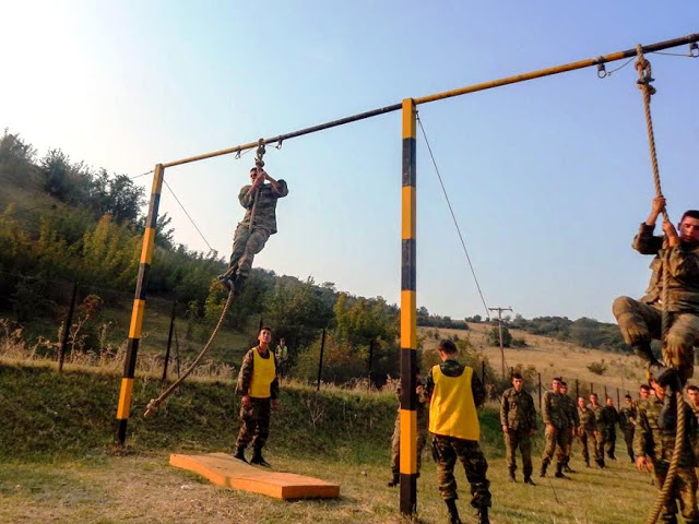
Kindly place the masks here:
<instances>
[{"instance_id":1,"label":"man climbing the left rope, high up near the beam","mask_svg":"<svg viewBox=\"0 0 699 524\"><path fill-rule=\"evenodd\" d=\"M240 188L238 193L238 202L246 209L245 217L236 228L228 269L218 275L223 286L236 295L250 275L254 255L262 251L270 235L276 233L276 201L288 194L286 182L274 180L264 170L263 155L264 143L260 140L256 166L250 169L251 183Z\"/></svg>"}]
</instances>

